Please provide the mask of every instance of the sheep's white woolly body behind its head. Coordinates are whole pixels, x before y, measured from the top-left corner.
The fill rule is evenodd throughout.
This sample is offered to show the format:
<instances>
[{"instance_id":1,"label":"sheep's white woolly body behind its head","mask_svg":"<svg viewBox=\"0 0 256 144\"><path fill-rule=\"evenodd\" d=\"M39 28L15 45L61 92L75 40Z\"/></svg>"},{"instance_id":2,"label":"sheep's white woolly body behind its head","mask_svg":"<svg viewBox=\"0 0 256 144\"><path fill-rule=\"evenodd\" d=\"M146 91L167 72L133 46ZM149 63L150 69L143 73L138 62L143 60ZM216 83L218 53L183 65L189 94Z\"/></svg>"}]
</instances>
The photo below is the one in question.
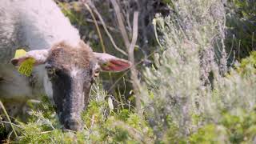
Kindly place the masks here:
<instances>
[{"instance_id":1,"label":"sheep's white woolly body behind its head","mask_svg":"<svg viewBox=\"0 0 256 144\"><path fill-rule=\"evenodd\" d=\"M34 68L36 83L31 87L29 78L18 74L10 59L18 47L50 49L62 41L76 47L80 36L53 0L0 0L0 98L33 97L42 91L52 97L44 66Z\"/></svg>"}]
</instances>

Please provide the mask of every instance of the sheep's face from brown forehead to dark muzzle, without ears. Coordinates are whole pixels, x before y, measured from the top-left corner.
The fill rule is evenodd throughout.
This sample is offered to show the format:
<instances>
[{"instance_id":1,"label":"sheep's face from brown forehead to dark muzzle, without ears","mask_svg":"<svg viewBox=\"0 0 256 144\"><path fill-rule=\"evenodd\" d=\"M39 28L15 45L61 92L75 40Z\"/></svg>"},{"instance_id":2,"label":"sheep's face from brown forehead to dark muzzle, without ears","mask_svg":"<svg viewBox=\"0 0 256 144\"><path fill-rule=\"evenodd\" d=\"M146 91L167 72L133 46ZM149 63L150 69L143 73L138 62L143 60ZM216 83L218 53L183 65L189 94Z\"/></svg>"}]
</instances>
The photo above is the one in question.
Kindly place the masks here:
<instances>
[{"instance_id":1,"label":"sheep's face from brown forehead to dark muzzle, without ears","mask_svg":"<svg viewBox=\"0 0 256 144\"><path fill-rule=\"evenodd\" d=\"M84 42L76 47L59 42L50 49L46 70L59 120L66 129L82 130L80 115L88 103L94 59Z\"/></svg>"}]
</instances>

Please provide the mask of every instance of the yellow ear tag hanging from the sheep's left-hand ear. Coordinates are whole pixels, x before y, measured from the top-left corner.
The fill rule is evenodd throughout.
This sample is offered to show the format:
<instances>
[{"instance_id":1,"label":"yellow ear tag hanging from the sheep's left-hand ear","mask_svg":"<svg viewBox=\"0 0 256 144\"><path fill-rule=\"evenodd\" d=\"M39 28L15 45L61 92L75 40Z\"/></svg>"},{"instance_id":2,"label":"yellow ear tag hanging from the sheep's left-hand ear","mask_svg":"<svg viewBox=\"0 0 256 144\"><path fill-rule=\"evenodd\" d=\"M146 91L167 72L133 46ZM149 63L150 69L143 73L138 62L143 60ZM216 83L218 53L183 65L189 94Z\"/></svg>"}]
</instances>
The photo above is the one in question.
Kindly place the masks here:
<instances>
[{"instance_id":1,"label":"yellow ear tag hanging from the sheep's left-hand ear","mask_svg":"<svg viewBox=\"0 0 256 144\"><path fill-rule=\"evenodd\" d=\"M19 58L19 57L22 57L22 56L25 56L25 55L26 55L25 50L23 50L23 49L16 50L14 58ZM32 74L34 63L35 63L34 58L27 58L18 67L18 72L20 74L25 74L27 77L29 77Z\"/></svg>"}]
</instances>

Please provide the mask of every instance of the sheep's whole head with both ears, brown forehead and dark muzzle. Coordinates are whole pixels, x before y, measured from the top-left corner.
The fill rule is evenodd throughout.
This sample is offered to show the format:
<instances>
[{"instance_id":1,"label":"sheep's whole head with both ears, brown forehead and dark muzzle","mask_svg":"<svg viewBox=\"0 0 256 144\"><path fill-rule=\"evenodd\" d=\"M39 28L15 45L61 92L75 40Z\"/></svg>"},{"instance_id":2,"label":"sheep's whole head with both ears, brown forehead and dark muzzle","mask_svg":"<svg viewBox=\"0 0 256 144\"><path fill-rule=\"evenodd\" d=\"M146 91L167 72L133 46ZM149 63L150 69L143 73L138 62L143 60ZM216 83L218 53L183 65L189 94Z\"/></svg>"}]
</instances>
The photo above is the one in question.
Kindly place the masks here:
<instances>
[{"instance_id":1,"label":"sheep's whole head with both ears, brown forehead and dark muzzle","mask_svg":"<svg viewBox=\"0 0 256 144\"><path fill-rule=\"evenodd\" d=\"M45 83L49 89L46 91L54 98L60 122L70 130L82 130L81 112L86 108L90 86L99 71L116 72L130 67L130 62L95 53L83 42L77 47L60 42L48 50L31 50L11 62L18 66L27 58L34 58L36 66L45 65Z\"/></svg>"}]
</instances>

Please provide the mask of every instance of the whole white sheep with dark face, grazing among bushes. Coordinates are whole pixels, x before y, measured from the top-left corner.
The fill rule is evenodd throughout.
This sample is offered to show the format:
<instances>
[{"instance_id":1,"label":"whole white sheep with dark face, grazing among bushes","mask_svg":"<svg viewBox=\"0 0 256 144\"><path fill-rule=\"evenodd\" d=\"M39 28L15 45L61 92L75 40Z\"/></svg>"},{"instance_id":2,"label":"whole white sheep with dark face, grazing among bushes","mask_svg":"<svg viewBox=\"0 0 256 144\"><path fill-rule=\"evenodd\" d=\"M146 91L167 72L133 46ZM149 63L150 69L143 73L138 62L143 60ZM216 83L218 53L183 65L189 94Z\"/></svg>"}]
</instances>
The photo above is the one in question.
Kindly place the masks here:
<instances>
[{"instance_id":1,"label":"whole white sheep with dark face, grazing among bushes","mask_svg":"<svg viewBox=\"0 0 256 144\"><path fill-rule=\"evenodd\" d=\"M8 104L46 94L66 129L82 130L80 115L100 70L118 72L131 66L93 52L52 0L1 0L0 19L0 98ZM14 58L21 47L28 52ZM34 69L26 77L14 66L29 58Z\"/></svg>"}]
</instances>

